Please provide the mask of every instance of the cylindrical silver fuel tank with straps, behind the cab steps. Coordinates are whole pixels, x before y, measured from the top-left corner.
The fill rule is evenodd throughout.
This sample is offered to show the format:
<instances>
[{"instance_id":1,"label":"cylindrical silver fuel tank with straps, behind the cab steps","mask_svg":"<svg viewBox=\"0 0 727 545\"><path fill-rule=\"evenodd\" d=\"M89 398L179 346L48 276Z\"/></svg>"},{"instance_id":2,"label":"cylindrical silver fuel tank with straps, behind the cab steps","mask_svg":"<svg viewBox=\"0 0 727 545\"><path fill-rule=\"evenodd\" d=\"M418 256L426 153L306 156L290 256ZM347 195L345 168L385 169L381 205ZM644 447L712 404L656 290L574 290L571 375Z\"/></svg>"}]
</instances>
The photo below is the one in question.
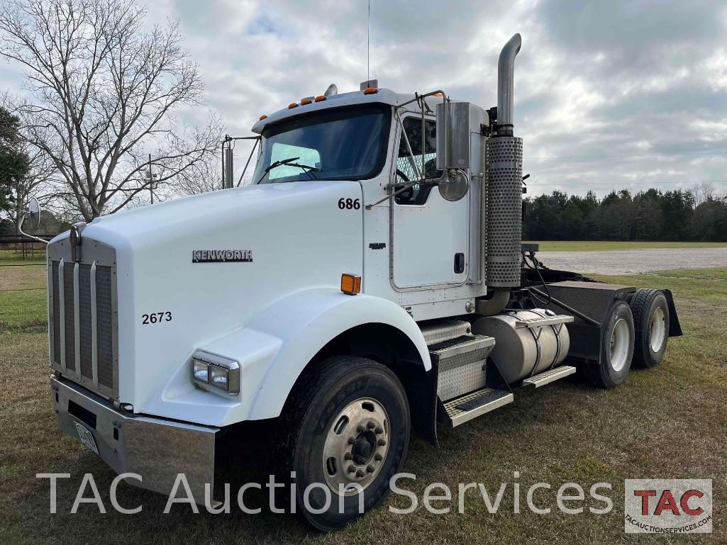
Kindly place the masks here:
<instances>
[{"instance_id":1,"label":"cylindrical silver fuel tank with straps, behind the cab steps","mask_svg":"<svg viewBox=\"0 0 727 545\"><path fill-rule=\"evenodd\" d=\"M475 320L472 331L494 337L490 358L508 384L560 365L568 355L572 316L545 309L513 310Z\"/></svg>"}]
</instances>

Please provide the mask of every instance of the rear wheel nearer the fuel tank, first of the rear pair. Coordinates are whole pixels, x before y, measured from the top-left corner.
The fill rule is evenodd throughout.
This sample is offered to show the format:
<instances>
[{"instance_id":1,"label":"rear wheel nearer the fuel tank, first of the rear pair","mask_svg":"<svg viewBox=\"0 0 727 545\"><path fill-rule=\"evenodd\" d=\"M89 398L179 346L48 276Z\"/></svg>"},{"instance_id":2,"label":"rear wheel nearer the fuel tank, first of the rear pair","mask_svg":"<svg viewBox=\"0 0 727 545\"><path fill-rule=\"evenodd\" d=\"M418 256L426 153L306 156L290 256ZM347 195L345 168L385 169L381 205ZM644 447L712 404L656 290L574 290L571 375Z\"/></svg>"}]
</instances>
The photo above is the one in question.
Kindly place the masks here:
<instances>
[{"instance_id":1,"label":"rear wheel nearer the fuel tank, first of the rear pair","mask_svg":"<svg viewBox=\"0 0 727 545\"><path fill-rule=\"evenodd\" d=\"M626 380L634 350L631 308L617 299L608 312L601 335L601 363L587 368L591 384L611 389Z\"/></svg>"}]
</instances>

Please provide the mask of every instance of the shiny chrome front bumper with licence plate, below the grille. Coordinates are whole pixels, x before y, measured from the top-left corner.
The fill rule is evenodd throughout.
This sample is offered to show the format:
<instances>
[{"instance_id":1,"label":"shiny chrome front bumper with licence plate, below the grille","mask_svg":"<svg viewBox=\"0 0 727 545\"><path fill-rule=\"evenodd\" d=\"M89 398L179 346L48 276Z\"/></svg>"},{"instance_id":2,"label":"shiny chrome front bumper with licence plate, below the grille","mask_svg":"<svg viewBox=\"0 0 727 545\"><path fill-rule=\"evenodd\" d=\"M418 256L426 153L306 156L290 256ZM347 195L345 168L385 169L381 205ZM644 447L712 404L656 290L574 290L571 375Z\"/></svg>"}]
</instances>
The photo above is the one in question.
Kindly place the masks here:
<instances>
[{"instance_id":1,"label":"shiny chrome front bumper with licence plate, below the grille","mask_svg":"<svg viewBox=\"0 0 727 545\"><path fill-rule=\"evenodd\" d=\"M136 473L129 484L169 494L183 473L195 501L214 484L214 440L218 428L132 415L72 382L51 376L58 427L79 437L76 422L91 432L98 454L116 473Z\"/></svg>"}]
</instances>

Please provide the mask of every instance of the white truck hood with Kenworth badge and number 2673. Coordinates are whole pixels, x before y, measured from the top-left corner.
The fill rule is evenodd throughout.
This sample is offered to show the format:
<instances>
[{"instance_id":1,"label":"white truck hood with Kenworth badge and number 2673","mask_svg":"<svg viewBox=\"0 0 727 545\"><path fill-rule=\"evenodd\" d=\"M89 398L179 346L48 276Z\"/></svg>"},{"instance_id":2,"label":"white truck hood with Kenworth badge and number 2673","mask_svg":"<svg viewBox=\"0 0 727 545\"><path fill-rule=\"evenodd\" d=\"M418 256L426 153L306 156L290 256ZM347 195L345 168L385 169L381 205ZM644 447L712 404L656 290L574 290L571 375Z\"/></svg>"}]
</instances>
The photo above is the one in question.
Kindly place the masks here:
<instances>
[{"instance_id":1,"label":"white truck hood with Kenworth badge and number 2673","mask_svg":"<svg viewBox=\"0 0 727 545\"><path fill-rule=\"evenodd\" d=\"M285 296L315 288L338 290L342 273L361 274L363 206L340 209L341 198L361 199L361 185L254 185L89 223L81 232L81 254L92 254L93 241L116 251L119 401L132 404L137 413L183 420L190 415L186 410L180 414L174 400L183 400L186 409L237 403L231 396L193 387L190 356L244 328ZM63 233L51 244L68 248L66 239L68 233ZM232 255L252 260L193 262L196 251L208 252L195 256L205 259ZM145 317L155 313L160 320Z\"/></svg>"}]
</instances>

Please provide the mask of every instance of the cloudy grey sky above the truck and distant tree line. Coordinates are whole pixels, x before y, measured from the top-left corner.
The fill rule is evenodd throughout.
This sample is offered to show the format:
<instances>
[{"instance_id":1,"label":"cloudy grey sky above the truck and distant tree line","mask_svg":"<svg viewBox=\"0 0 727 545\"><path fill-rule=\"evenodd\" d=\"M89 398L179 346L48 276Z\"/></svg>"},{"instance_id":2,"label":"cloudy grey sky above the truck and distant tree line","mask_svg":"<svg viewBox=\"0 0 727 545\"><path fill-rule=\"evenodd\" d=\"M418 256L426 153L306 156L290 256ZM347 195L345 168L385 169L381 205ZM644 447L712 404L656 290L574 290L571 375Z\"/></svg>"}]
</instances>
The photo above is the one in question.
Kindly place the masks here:
<instances>
[{"instance_id":1,"label":"cloudy grey sky above the truck and distant tree line","mask_svg":"<svg viewBox=\"0 0 727 545\"><path fill-rule=\"evenodd\" d=\"M208 107L233 136L302 97L366 80L366 0L156 0L179 20ZM513 33L515 134L529 193L627 188L727 193L727 1L371 0L370 78L497 103L497 56ZM0 88L17 81L0 67ZM203 122L204 108L183 110ZM236 163L246 160L244 145Z\"/></svg>"}]
</instances>

